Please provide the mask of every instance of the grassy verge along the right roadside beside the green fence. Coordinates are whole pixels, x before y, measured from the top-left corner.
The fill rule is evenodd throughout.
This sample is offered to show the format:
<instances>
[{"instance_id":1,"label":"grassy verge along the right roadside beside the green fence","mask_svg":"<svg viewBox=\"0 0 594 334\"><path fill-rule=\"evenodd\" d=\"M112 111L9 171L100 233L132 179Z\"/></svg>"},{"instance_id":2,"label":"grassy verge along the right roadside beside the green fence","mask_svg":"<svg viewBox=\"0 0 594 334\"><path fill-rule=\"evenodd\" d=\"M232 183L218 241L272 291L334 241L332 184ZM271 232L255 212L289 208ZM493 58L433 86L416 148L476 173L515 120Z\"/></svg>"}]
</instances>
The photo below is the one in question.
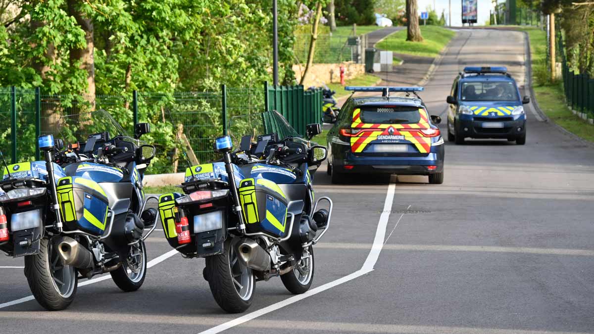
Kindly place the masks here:
<instances>
[{"instance_id":1,"label":"grassy verge along the right roadside beside the green fence","mask_svg":"<svg viewBox=\"0 0 594 334\"><path fill-rule=\"evenodd\" d=\"M541 75L548 75L546 72L546 32L536 27L518 27L526 31L530 38L530 55L532 56L532 81L535 99L542 112L548 118L587 141L594 142L594 125L584 122L583 119L574 115L565 103L563 84L547 83L540 84ZM545 67L545 70L542 67ZM543 73L544 72L544 73Z\"/></svg>"}]
</instances>

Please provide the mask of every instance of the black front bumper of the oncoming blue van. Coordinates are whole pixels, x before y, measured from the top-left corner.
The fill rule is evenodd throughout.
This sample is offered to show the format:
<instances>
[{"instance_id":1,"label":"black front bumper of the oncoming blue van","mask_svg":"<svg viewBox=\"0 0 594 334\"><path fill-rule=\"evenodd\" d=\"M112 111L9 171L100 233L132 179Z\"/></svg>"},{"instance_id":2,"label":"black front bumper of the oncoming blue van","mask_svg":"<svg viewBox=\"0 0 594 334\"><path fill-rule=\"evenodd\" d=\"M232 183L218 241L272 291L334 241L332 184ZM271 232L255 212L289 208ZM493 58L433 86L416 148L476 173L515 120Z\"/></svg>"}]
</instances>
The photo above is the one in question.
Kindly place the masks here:
<instances>
[{"instance_id":1,"label":"black front bumper of the oncoming blue van","mask_svg":"<svg viewBox=\"0 0 594 334\"><path fill-rule=\"evenodd\" d=\"M485 121L475 121L474 119L458 119L456 136L462 134L463 137L470 138L508 138L515 139L526 136L526 119L519 118L514 121L504 121L503 128L485 128ZM493 119L491 122L498 122ZM491 123L488 122L488 123ZM460 134L459 134L460 132Z\"/></svg>"}]
</instances>

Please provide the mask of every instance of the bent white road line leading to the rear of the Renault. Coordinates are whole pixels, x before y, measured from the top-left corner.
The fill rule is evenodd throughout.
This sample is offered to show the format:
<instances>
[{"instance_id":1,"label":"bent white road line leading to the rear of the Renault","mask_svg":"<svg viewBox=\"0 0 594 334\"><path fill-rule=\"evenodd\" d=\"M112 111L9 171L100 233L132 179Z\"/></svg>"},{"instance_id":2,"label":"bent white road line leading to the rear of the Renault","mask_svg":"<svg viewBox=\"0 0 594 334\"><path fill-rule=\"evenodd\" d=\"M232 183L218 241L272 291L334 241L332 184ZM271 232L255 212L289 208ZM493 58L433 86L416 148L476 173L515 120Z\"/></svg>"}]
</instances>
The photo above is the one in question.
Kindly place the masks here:
<instances>
[{"instance_id":1,"label":"bent white road line leading to the rear of the Renault","mask_svg":"<svg viewBox=\"0 0 594 334\"><path fill-rule=\"evenodd\" d=\"M257 317L263 316L264 314L279 310L280 308L296 303L307 297L311 297L312 295L319 294L320 292L326 291L327 289L331 289L334 286L349 282L352 279L358 278L359 276L365 275L366 273L369 273L372 270L374 270L375 263L377 262L377 259L380 256L380 251L383 245L384 237L386 237L386 226L388 225L388 218L390 218L390 212L392 210L392 202L394 200L395 190L395 184L391 183L390 185L388 185L386 201L384 201L384 210L381 213L380 222L378 223L377 230L375 231L374 242L371 247L371 250L369 251L369 255L367 256L367 259L365 260L365 263L363 263L361 269L357 270L356 272L350 275L344 276L343 278L339 278L336 281L328 282L324 285L318 286L317 288L311 289L305 292L305 294L295 295L293 297L287 298L286 300L279 301L278 303L274 303L272 305L268 305L267 307L260 308L260 310L245 314L245 316L241 316L229 322L219 324L219 326L207 329L204 332L201 332L200 334L220 333L223 330L230 329L231 327L238 326L239 324L248 322L249 320L253 320Z\"/></svg>"}]
</instances>

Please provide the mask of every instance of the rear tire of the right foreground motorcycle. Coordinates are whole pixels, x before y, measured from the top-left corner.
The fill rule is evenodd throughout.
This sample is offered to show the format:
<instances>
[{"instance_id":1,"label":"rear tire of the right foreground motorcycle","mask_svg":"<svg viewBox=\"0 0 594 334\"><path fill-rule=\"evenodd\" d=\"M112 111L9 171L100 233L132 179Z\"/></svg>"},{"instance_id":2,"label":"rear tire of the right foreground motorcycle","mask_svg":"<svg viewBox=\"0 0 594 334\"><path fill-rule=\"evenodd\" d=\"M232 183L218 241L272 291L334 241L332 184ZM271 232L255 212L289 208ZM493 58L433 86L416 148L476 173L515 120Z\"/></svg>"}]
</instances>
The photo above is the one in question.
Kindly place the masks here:
<instances>
[{"instance_id":1,"label":"rear tire of the right foreground motorcycle","mask_svg":"<svg viewBox=\"0 0 594 334\"><path fill-rule=\"evenodd\" d=\"M256 286L252 270L239 261L235 241L228 238L222 254L208 256L204 270L214 300L228 313L247 310L254 299Z\"/></svg>"}]
</instances>

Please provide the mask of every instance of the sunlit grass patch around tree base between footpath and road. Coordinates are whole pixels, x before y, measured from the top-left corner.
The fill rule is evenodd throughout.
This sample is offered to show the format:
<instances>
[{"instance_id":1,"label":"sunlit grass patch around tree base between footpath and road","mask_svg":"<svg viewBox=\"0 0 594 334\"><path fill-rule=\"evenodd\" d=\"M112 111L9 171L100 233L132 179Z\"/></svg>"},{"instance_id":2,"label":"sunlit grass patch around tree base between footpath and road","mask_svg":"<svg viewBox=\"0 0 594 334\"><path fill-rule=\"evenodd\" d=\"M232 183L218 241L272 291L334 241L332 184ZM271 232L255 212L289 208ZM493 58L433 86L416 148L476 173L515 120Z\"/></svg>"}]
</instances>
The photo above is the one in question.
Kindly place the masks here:
<instances>
[{"instance_id":1,"label":"sunlit grass patch around tree base between footpath and road","mask_svg":"<svg viewBox=\"0 0 594 334\"><path fill-rule=\"evenodd\" d=\"M407 42L406 29L391 34L377 43L378 49L405 53L407 55L435 57L456 35L454 31L439 26L421 26L423 42Z\"/></svg>"}]
</instances>

